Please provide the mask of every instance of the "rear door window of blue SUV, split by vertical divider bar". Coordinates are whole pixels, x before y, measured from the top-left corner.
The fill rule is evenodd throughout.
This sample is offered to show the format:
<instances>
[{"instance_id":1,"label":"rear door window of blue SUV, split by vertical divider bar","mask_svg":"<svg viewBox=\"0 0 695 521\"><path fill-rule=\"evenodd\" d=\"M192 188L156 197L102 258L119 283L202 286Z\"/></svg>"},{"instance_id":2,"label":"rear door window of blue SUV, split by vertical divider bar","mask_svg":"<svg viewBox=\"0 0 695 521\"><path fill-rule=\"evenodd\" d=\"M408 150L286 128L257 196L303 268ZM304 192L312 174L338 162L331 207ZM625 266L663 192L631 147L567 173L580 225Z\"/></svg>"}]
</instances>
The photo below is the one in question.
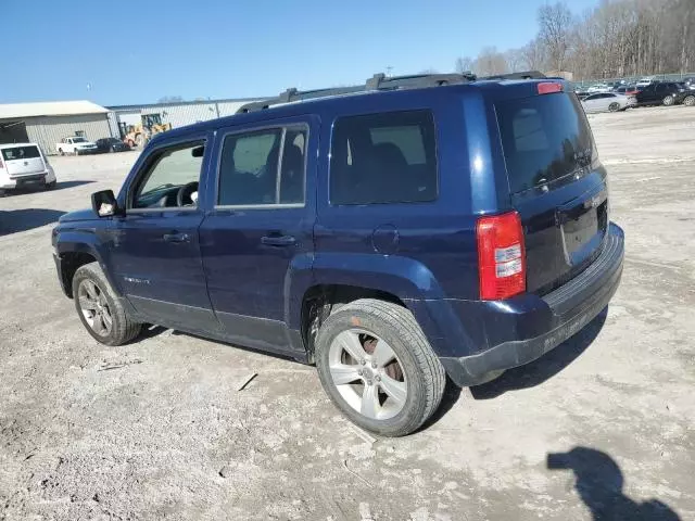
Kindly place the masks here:
<instances>
[{"instance_id":1,"label":"rear door window of blue SUV, split by vertical divider bar","mask_svg":"<svg viewBox=\"0 0 695 521\"><path fill-rule=\"evenodd\" d=\"M219 163L217 205L303 204L306 144L304 127L227 136Z\"/></svg>"}]
</instances>

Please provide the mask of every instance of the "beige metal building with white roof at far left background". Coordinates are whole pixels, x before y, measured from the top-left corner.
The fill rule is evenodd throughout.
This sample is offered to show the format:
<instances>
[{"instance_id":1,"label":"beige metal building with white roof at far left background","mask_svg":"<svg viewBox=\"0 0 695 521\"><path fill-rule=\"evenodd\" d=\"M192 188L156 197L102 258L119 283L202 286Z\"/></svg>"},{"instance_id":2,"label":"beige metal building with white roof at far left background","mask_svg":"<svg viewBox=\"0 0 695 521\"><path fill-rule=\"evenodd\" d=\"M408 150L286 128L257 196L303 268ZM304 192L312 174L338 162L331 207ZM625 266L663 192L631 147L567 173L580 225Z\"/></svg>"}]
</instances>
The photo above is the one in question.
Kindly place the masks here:
<instances>
[{"instance_id":1,"label":"beige metal building with white roof at far left background","mask_svg":"<svg viewBox=\"0 0 695 521\"><path fill-rule=\"evenodd\" d=\"M29 141L54 154L55 143L64 137L84 136L94 141L112 136L108 113L85 100L0 105L0 142Z\"/></svg>"}]
</instances>

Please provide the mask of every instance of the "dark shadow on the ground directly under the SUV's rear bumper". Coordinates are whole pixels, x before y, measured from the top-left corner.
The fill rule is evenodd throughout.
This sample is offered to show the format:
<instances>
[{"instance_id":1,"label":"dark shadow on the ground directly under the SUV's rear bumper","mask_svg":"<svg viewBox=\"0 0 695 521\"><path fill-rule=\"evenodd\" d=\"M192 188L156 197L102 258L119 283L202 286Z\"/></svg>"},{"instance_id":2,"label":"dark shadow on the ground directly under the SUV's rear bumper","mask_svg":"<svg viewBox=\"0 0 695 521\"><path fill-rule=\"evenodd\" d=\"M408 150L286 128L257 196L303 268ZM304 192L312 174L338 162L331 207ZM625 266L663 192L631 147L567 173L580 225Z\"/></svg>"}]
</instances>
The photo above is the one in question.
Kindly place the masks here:
<instances>
[{"instance_id":1,"label":"dark shadow on the ground directly under the SUV's rear bumper","mask_svg":"<svg viewBox=\"0 0 695 521\"><path fill-rule=\"evenodd\" d=\"M563 342L538 360L509 369L500 378L489 383L470 387L470 394L476 399L491 399L508 391L540 385L560 372L574 361L579 355L586 351L604 327L607 315L608 308L606 307L579 333Z\"/></svg>"}]
</instances>

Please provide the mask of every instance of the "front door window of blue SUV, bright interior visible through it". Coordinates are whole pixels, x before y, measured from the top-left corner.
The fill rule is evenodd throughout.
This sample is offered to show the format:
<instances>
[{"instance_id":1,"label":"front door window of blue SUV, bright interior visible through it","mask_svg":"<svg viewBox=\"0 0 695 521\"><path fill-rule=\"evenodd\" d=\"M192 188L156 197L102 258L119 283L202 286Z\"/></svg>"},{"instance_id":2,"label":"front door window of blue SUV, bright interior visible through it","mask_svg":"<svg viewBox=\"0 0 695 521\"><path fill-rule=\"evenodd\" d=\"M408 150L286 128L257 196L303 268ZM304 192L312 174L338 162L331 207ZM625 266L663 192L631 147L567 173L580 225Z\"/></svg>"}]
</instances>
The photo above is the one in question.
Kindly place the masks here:
<instances>
[{"instance_id":1,"label":"front door window of blue SUV, bright interior visible through it","mask_svg":"<svg viewBox=\"0 0 695 521\"><path fill-rule=\"evenodd\" d=\"M203 141L155 151L137 182L132 208L180 208L198 205Z\"/></svg>"}]
</instances>

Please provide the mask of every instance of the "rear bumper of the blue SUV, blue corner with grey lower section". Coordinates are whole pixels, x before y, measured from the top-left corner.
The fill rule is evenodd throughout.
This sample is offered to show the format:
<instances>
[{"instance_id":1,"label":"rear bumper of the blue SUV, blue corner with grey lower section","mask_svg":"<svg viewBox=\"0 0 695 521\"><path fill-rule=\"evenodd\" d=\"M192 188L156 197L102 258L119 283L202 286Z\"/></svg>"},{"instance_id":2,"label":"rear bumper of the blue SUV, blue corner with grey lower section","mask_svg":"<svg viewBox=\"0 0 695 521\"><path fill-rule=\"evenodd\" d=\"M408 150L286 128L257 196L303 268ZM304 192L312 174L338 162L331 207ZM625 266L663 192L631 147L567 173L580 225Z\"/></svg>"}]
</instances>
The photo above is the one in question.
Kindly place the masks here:
<instances>
[{"instance_id":1,"label":"rear bumper of the blue SUV, blue corner with grey lower section","mask_svg":"<svg viewBox=\"0 0 695 521\"><path fill-rule=\"evenodd\" d=\"M496 330L496 338L507 339L468 356L440 356L448 377L460 386L476 385L493 371L528 364L565 342L608 305L620 283L623 256L623 232L610 224L603 253L567 284L543 297L522 295L488 305L479 314L485 338Z\"/></svg>"}]
</instances>

